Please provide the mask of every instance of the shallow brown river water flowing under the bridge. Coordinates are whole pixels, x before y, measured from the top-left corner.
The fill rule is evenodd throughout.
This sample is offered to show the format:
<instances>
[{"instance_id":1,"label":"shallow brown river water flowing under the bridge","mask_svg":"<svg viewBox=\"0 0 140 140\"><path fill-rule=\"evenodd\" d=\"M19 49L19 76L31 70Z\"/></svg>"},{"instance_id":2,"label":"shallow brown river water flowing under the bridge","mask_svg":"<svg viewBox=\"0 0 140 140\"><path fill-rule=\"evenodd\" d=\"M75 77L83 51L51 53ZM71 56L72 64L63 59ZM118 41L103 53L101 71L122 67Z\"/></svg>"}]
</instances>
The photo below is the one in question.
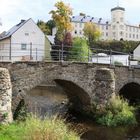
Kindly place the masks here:
<instances>
[{"instance_id":1,"label":"shallow brown river water flowing under the bridge","mask_svg":"<svg viewBox=\"0 0 140 140\"><path fill-rule=\"evenodd\" d=\"M84 131L81 140L140 140L140 125L105 127L78 113L70 113L67 108L69 99L61 87L36 87L26 98L30 112L38 112L44 116L67 113L70 116L68 121L76 126L77 130Z\"/></svg>"}]
</instances>

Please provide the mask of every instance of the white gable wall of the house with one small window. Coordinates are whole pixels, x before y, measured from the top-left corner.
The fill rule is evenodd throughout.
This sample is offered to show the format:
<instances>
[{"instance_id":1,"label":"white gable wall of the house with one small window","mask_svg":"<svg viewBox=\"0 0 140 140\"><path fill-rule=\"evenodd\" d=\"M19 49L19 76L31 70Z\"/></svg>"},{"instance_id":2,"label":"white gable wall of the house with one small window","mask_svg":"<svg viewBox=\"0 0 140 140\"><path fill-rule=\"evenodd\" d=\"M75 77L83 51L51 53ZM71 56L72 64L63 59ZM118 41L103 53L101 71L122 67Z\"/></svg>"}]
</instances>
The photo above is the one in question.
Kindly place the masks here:
<instances>
[{"instance_id":1,"label":"white gable wall of the house with one small window","mask_svg":"<svg viewBox=\"0 0 140 140\"><path fill-rule=\"evenodd\" d=\"M45 55L45 35L32 19L28 20L11 37L12 61L29 59L32 43L33 60L43 60ZM27 44L27 49L22 50L21 44ZM37 51L36 51L37 50ZM37 53L36 53L37 52Z\"/></svg>"}]
</instances>

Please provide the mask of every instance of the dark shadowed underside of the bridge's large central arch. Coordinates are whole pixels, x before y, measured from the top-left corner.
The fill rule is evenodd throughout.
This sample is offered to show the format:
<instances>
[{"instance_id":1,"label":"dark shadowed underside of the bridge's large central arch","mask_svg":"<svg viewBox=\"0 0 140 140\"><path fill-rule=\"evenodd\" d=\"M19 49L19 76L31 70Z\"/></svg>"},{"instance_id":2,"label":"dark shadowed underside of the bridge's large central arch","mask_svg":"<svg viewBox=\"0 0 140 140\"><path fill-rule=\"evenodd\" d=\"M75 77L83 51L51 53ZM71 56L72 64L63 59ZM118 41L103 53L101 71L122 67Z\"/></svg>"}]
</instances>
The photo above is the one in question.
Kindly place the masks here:
<instances>
[{"instance_id":1,"label":"dark shadowed underside of the bridge's large central arch","mask_svg":"<svg viewBox=\"0 0 140 140\"><path fill-rule=\"evenodd\" d=\"M63 79L55 79L54 81L64 89L75 110L84 110L90 105L89 94L78 84Z\"/></svg>"}]
</instances>

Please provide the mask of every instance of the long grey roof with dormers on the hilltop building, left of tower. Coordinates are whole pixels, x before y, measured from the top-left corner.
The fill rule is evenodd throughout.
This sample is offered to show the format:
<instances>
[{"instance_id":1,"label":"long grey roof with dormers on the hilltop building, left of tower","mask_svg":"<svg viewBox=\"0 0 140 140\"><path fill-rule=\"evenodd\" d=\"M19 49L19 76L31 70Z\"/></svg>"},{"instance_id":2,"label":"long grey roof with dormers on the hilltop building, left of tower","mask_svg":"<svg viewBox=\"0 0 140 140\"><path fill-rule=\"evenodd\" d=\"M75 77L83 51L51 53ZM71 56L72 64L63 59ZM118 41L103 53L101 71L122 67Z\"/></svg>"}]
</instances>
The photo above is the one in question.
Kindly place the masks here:
<instances>
[{"instance_id":1,"label":"long grey roof with dormers on the hilltop building, left of tower","mask_svg":"<svg viewBox=\"0 0 140 140\"><path fill-rule=\"evenodd\" d=\"M96 17L91 17L91 16L73 16L71 18L72 22L93 22L93 23L98 23L98 24L110 24L109 20L105 20L102 18L96 18Z\"/></svg>"}]
</instances>

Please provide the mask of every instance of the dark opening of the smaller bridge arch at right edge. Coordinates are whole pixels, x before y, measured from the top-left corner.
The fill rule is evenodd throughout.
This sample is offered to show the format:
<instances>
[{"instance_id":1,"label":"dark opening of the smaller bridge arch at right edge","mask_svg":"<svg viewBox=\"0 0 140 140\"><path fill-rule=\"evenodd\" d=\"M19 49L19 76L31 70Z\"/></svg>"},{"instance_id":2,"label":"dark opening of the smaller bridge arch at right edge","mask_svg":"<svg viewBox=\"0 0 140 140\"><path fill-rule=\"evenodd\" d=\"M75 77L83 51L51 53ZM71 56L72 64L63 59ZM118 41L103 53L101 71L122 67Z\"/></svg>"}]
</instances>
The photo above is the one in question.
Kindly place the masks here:
<instances>
[{"instance_id":1,"label":"dark opening of the smaller bridge arch at right edge","mask_svg":"<svg viewBox=\"0 0 140 140\"><path fill-rule=\"evenodd\" d=\"M130 103L137 103L140 100L140 84L129 82L119 90L119 95L128 99Z\"/></svg>"}]
</instances>

